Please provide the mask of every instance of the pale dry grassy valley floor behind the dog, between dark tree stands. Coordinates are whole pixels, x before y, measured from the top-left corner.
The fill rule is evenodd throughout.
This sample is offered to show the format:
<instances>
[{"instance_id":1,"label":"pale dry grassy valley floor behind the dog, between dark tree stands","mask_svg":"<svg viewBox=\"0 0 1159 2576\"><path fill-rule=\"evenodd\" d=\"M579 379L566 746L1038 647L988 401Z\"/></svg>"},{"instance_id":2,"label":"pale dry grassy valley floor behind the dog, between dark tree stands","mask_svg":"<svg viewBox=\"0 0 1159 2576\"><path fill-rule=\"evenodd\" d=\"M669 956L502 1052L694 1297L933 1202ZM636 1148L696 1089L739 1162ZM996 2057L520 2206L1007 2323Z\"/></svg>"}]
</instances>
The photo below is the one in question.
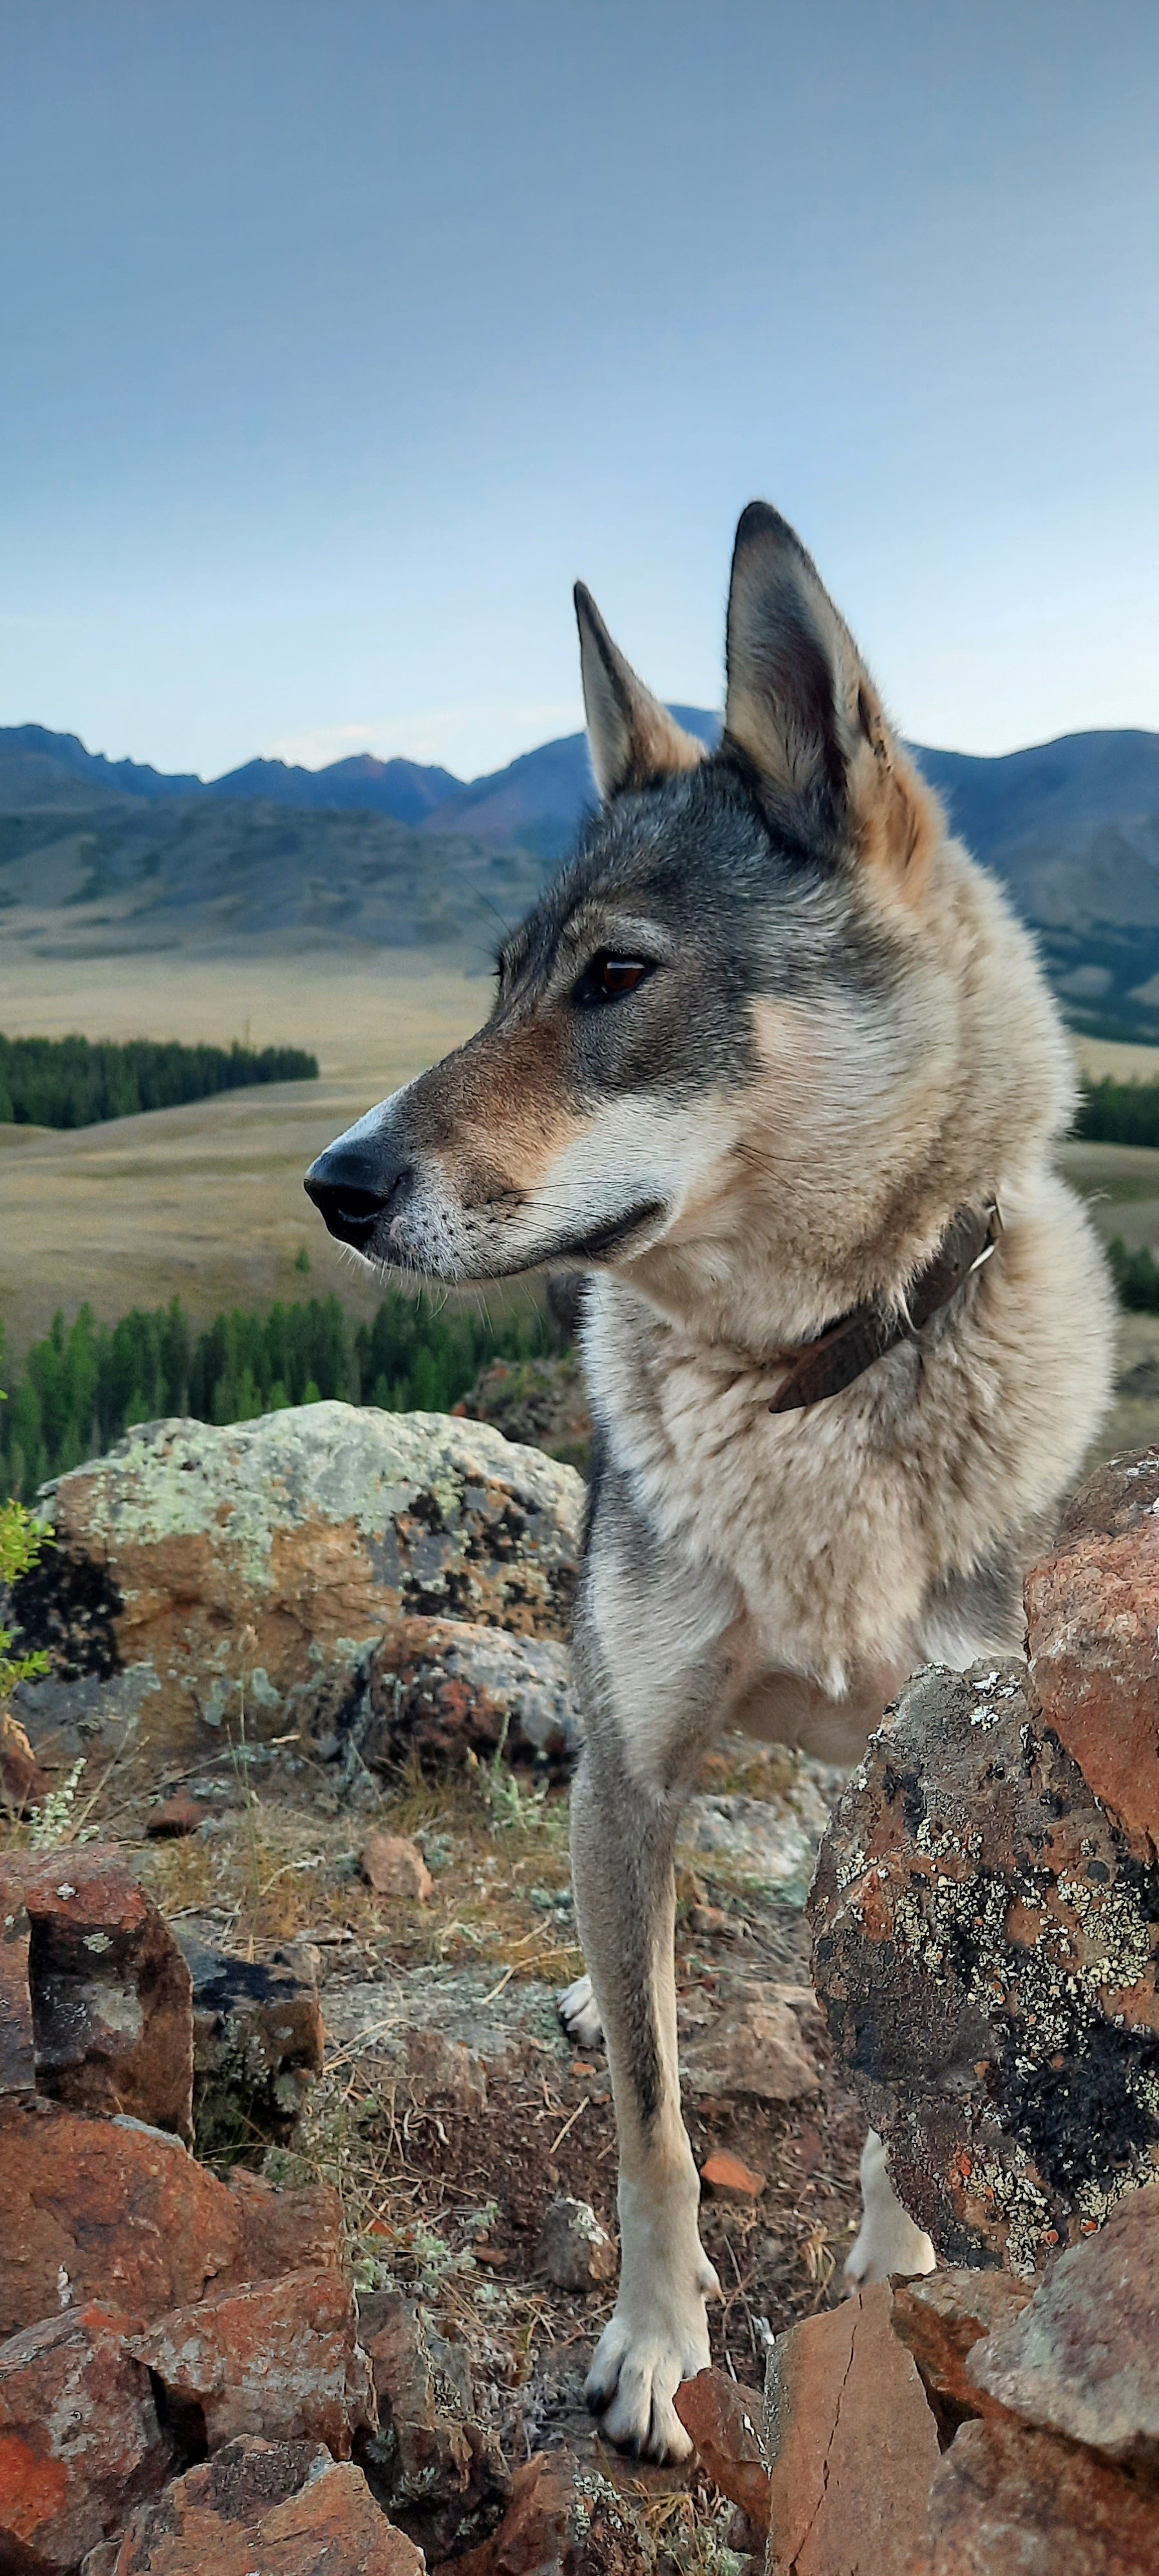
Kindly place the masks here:
<instances>
[{"instance_id":1,"label":"pale dry grassy valley floor behind the dog, between dark tree stands","mask_svg":"<svg viewBox=\"0 0 1159 2576\"><path fill-rule=\"evenodd\" d=\"M23 1352L62 1306L116 1324L180 1296L193 1327L224 1306L325 1298L371 1321L381 1288L325 1234L301 1190L312 1157L373 1100L458 1046L487 1012L482 974L422 953L255 958L0 958L0 1030L306 1046L319 1082L221 1092L90 1128L0 1126L0 1316ZM1100 1077L1154 1079L1159 1048L1079 1038ZM1159 1255L1159 1149L1069 1144L1066 1177L1102 1234ZM309 1273L299 1257L306 1252ZM507 1288L489 1303L525 1298ZM1159 1316L1120 1321L1120 1396L1102 1453L1159 1437Z\"/></svg>"}]
</instances>

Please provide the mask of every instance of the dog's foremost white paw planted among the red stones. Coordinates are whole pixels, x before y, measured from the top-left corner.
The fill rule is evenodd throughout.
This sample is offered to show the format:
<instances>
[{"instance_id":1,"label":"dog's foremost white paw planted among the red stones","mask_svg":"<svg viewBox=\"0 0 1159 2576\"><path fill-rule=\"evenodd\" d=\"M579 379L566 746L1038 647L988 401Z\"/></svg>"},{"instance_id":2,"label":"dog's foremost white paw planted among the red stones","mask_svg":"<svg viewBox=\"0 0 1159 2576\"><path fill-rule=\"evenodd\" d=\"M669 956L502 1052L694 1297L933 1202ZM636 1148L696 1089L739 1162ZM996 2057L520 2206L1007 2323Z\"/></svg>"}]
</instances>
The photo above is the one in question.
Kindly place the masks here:
<instances>
[{"instance_id":1,"label":"dog's foremost white paw planted among the red stones","mask_svg":"<svg viewBox=\"0 0 1159 2576\"><path fill-rule=\"evenodd\" d=\"M701 2254L698 2287L688 2300L672 2300L639 2318L618 2308L600 2334L585 2398L592 2414L603 2416L600 2429L608 2439L639 2460L688 2460L693 2450L672 2398L680 2380L695 2380L698 2370L708 2370L703 2303L719 2295L716 2272Z\"/></svg>"}]
</instances>

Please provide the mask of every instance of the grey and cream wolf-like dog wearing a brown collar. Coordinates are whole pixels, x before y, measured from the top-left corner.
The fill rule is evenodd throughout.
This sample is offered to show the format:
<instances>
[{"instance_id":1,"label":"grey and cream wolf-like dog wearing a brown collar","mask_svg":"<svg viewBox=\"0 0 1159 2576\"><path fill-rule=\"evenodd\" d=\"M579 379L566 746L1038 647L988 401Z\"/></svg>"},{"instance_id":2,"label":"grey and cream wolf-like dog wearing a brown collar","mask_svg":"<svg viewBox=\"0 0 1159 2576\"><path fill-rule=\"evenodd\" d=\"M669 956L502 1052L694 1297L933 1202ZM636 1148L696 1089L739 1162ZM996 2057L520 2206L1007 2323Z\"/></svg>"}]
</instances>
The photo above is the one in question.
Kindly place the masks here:
<instances>
[{"instance_id":1,"label":"grey and cream wolf-like dog wearing a brown collar","mask_svg":"<svg viewBox=\"0 0 1159 2576\"><path fill-rule=\"evenodd\" d=\"M706 752L577 587L600 811L487 1025L306 1175L376 1265L582 1265L595 1419L564 1999L603 2025L621 2285L587 2396L688 2455L719 2290L680 2117L672 1850L706 1744L855 1762L917 1664L1022 1649L1022 1569L1110 1388L1051 1170L1071 1059L1030 935L948 835L788 523L737 528ZM598 2020L595 2020L598 2012ZM863 2159L853 2269L932 2264Z\"/></svg>"}]
</instances>

